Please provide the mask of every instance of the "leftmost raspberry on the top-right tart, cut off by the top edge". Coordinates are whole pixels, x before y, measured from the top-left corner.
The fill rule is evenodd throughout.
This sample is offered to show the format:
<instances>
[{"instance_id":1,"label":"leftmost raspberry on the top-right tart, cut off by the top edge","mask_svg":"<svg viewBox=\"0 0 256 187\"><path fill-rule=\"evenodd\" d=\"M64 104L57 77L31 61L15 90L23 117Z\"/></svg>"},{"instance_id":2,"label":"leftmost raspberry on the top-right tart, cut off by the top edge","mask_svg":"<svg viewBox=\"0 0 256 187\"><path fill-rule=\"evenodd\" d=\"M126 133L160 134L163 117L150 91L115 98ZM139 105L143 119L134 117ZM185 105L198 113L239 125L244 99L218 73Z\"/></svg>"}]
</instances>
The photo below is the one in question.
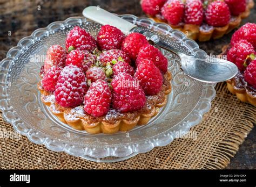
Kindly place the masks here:
<instances>
[{"instance_id":1,"label":"leftmost raspberry on the top-right tart, cut off by the top edge","mask_svg":"<svg viewBox=\"0 0 256 187\"><path fill-rule=\"evenodd\" d=\"M142 0L142 10L150 16L160 12L166 0Z\"/></svg>"}]
</instances>

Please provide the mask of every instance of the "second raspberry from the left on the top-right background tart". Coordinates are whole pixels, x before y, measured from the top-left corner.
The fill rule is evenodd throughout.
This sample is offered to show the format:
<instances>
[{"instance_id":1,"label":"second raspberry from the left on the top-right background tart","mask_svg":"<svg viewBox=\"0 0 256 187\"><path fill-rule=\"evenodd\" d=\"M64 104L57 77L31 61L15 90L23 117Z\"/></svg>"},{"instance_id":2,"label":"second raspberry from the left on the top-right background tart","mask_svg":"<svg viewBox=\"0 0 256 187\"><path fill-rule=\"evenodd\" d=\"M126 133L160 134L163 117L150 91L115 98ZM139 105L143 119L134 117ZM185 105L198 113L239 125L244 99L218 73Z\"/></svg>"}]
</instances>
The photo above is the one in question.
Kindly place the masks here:
<instances>
[{"instance_id":1,"label":"second raspberry from the left on the top-right background tart","mask_svg":"<svg viewBox=\"0 0 256 187\"><path fill-rule=\"evenodd\" d=\"M161 14L169 24L178 25L184 17L184 4L179 0L169 0L161 9Z\"/></svg>"}]
</instances>

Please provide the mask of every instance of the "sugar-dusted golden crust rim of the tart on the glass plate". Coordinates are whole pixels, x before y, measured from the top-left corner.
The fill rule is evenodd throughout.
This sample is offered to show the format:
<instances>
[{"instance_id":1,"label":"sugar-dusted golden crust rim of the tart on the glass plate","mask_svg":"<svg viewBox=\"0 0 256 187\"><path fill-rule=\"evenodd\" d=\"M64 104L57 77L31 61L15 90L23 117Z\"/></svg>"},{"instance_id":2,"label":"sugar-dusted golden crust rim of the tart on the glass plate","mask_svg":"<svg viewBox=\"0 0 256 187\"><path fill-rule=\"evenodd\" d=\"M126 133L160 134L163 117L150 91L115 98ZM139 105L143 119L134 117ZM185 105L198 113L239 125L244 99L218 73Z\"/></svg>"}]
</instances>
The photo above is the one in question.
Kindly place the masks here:
<instances>
[{"instance_id":1,"label":"sugar-dusted golden crust rim of the tart on the glass plate","mask_svg":"<svg viewBox=\"0 0 256 187\"><path fill-rule=\"evenodd\" d=\"M161 91L155 96L146 96L146 106L136 112L120 113L114 109L103 117L92 117L84 112L83 105L75 108L64 108L55 102L52 93L45 91L38 83L38 90L41 92L42 102L50 107L52 114L54 114L60 121L76 130L87 131L92 134L105 133L112 134L118 131L130 131L136 125L145 125L149 120L156 116L160 107L166 104L167 95L172 90L171 81L172 75L167 71L164 75L164 84Z\"/></svg>"}]
</instances>

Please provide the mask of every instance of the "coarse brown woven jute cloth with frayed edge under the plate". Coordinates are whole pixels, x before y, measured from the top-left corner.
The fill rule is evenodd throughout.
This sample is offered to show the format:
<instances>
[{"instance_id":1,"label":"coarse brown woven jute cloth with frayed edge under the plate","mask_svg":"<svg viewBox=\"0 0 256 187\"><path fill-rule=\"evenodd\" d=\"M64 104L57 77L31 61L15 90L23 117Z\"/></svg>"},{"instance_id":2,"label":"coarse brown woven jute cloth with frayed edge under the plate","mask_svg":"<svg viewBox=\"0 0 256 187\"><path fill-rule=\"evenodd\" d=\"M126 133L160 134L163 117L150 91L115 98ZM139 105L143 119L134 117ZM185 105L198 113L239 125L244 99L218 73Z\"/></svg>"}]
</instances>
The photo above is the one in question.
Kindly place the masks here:
<instances>
[{"instance_id":1,"label":"coarse brown woven jute cloth with frayed edge under the plate","mask_svg":"<svg viewBox=\"0 0 256 187\"><path fill-rule=\"evenodd\" d=\"M1 169L223 169L239 149L256 119L256 107L241 103L228 92L225 83L217 84L217 96L203 121L183 138L157 147L129 160L97 163L63 152L52 152L42 145L17 137L12 125L0 117ZM196 136L194 136L196 135Z\"/></svg>"}]
</instances>

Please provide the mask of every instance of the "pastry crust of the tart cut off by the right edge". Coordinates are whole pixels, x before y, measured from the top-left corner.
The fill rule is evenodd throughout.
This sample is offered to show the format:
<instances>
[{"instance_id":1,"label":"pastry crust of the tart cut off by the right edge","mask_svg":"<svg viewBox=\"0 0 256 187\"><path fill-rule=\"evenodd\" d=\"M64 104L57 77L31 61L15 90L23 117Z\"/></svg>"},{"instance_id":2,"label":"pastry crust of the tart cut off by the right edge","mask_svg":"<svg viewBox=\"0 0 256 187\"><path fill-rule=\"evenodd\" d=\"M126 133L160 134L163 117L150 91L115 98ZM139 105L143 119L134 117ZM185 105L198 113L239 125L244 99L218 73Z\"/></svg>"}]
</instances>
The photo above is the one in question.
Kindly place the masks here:
<instances>
[{"instance_id":1,"label":"pastry crust of the tart cut off by the right edge","mask_svg":"<svg viewBox=\"0 0 256 187\"><path fill-rule=\"evenodd\" d=\"M230 45L224 46L222 48L223 53L221 53L221 55L226 55L228 48L230 48ZM226 82L227 89L236 95L241 102L250 103L256 106L256 89L246 85L240 72L234 78Z\"/></svg>"}]
</instances>

